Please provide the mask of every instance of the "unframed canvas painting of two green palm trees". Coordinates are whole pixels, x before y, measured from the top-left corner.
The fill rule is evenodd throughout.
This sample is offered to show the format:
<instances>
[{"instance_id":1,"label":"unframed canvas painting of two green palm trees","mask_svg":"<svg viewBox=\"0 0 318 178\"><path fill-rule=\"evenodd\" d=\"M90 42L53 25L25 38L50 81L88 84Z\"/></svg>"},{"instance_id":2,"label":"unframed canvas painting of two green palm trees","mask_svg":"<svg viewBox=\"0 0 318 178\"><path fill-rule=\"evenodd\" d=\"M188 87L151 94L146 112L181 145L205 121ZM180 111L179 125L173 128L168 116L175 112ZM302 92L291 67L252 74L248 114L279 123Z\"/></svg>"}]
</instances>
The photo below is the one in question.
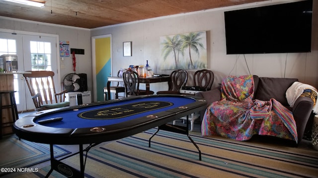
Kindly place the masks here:
<instances>
[{"instance_id":1,"label":"unframed canvas painting of two green palm trees","mask_svg":"<svg viewBox=\"0 0 318 178\"><path fill-rule=\"evenodd\" d=\"M199 69L207 67L206 32L160 37L160 69Z\"/></svg>"}]
</instances>

